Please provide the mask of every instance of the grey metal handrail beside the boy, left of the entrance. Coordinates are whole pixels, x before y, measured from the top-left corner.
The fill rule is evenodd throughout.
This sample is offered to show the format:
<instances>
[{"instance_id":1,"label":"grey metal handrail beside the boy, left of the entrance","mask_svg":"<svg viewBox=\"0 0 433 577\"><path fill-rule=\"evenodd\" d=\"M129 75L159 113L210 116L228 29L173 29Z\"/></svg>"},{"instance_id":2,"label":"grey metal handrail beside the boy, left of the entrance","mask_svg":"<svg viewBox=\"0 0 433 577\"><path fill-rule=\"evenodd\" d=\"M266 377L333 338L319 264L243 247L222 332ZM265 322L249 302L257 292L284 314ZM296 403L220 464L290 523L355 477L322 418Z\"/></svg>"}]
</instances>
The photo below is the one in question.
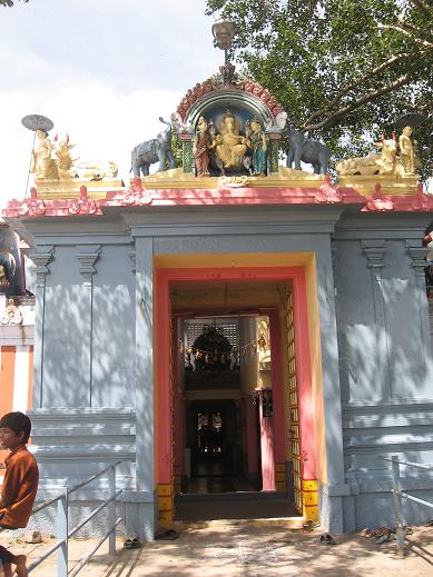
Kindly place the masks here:
<instances>
[{"instance_id":1,"label":"grey metal handrail beside the boy, left of the entrance","mask_svg":"<svg viewBox=\"0 0 433 577\"><path fill-rule=\"evenodd\" d=\"M46 551L43 551L37 559L35 559L28 567L28 571L31 573L33 569L39 567L39 565L45 561L50 555L58 551L58 560L57 560L57 575L58 577L75 577L81 569L87 565L87 563L91 559L95 553L99 549L102 543L108 538L108 553L109 555L116 555L116 528L124 520L121 517L116 519L116 499L121 495L122 489L116 490L116 467L120 465L121 461L117 461L115 464L109 465L105 469L99 472L92 475L88 479L73 485L72 487L65 487L63 493L60 495L48 499L37 507L33 508L32 515L36 513L46 509L50 505L57 503L57 541ZM108 489L109 497L105 499L96 509L94 509L82 521L80 521L76 527L68 530L68 497L71 493L89 485L98 477L101 477L108 472ZM78 561L70 571L68 571L68 540L72 535L75 535L79 529L81 529L87 523L89 523L98 513L100 513L105 507L109 507L108 509L108 530L99 539L96 546L83 557L80 561Z\"/></svg>"}]
</instances>

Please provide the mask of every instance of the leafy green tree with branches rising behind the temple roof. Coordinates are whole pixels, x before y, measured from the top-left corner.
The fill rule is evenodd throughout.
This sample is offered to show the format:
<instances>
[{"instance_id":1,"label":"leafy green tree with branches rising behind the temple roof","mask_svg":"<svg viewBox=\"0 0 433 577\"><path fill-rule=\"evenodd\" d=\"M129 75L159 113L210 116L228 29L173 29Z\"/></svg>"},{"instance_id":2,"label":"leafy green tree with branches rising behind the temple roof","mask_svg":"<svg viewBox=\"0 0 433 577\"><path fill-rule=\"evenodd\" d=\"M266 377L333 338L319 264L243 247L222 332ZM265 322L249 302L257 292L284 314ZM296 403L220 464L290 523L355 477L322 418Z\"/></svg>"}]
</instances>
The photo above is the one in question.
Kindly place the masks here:
<instances>
[{"instance_id":1,"label":"leafy green tree with branches rising behind the temple roof","mask_svg":"<svg viewBox=\"0 0 433 577\"><path fill-rule=\"evenodd\" d=\"M415 136L429 167L431 0L207 0L207 13L235 23L242 73L336 157L365 153L400 116L416 111L425 117Z\"/></svg>"}]
</instances>

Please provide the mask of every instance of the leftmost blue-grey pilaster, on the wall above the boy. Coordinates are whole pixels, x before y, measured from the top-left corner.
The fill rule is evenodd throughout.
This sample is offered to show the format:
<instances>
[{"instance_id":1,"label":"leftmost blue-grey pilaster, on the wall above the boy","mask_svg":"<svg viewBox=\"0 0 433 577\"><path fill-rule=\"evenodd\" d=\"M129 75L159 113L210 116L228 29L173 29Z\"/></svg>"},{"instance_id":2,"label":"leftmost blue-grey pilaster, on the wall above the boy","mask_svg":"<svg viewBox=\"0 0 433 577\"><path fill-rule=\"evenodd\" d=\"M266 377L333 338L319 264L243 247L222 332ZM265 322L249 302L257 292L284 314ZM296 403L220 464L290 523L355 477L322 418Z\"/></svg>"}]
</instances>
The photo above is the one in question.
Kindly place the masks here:
<instances>
[{"instance_id":1,"label":"leftmost blue-grey pilaster, on the wall above the boy","mask_svg":"<svg viewBox=\"0 0 433 577\"><path fill-rule=\"evenodd\" d=\"M43 402L43 325L46 308L46 276L55 247L38 246L31 253L36 265L36 310L35 310L35 348L33 348L33 408L39 409Z\"/></svg>"}]
</instances>

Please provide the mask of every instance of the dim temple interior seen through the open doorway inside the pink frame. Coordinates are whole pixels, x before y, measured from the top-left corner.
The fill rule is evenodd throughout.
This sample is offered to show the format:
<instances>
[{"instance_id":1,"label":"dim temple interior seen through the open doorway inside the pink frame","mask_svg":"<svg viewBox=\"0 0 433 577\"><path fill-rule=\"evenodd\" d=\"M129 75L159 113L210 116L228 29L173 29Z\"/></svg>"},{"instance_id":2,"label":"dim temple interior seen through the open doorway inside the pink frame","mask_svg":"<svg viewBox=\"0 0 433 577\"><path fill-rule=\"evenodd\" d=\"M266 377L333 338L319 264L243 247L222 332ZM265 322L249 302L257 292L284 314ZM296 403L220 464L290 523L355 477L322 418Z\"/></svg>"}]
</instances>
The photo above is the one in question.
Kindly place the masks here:
<instances>
[{"instance_id":1,"label":"dim temple interior seen through the open doorway inside the pink frame","mask_svg":"<svg viewBox=\"0 0 433 577\"><path fill-rule=\"evenodd\" d=\"M301 515L292 282L174 282L170 307L176 518Z\"/></svg>"}]
</instances>

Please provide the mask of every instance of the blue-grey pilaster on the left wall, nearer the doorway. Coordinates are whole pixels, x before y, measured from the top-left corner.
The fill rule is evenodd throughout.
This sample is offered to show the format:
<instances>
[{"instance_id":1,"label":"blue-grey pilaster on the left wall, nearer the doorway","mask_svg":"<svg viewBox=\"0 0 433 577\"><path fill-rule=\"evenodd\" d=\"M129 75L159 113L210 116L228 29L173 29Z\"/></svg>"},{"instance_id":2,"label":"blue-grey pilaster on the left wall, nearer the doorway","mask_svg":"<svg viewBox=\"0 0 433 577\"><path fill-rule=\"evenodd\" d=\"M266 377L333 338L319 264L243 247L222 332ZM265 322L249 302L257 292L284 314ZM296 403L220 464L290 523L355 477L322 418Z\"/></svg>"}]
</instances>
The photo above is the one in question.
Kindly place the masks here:
<instances>
[{"instance_id":1,"label":"blue-grey pilaster on the left wall, nearer the doorway","mask_svg":"<svg viewBox=\"0 0 433 577\"><path fill-rule=\"evenodd\" d=\"M80 275L82 277L82 290L80 299L80 314L82 320L81 332L81 364L82 364L82 387L89 391L89 407L91 407L91 335L94 317L94 273L96 272L95 262L100 255L100 245L81 245L77 247L76 257L80 263Z\"/></svg>"}]
</instances>

